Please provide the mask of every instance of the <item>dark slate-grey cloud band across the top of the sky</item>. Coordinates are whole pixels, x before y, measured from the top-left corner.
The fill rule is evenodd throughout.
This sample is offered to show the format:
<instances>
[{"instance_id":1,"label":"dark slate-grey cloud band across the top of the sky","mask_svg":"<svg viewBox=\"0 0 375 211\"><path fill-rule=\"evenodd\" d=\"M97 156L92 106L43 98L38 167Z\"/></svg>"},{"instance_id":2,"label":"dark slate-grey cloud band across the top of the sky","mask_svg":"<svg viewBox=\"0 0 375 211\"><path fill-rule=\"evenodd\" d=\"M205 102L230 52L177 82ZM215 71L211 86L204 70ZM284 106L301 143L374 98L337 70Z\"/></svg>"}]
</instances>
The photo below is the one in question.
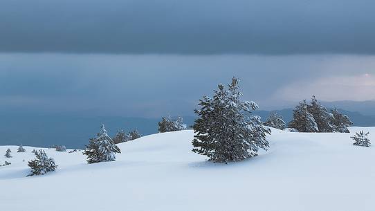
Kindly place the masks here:
<instances>
[{"instance_id":1,"label":"dark slate-grey cloud band across the top of the sky","mask_svg":"<svg viewBox=\"0 0 375 211\"><path fill-rule=\"evenodd\" d=\"M375 53L375 1L2 0L1 52Z\"/></svg>"}]
</instances>

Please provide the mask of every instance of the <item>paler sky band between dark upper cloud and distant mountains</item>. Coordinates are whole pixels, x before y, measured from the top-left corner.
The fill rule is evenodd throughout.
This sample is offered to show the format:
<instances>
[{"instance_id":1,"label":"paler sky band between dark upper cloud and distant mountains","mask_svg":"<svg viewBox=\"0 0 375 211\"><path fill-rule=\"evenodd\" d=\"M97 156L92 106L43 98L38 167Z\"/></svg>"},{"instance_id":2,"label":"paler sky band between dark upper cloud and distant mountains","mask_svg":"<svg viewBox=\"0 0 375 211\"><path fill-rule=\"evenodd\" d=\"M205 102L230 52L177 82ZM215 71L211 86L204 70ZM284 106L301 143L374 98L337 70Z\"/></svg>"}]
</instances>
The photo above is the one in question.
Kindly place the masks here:
<instances>
[{"instance_id":1,"label":"paler sky band between dark upper cloud and distant mountains","mask_svg":"<svg viewBox=\"0 0 375 211\"><path fill-rule=\"evenodd\" d=\"M374 56L0 54L0 64L0 110L8 113L192 115L233 75L261 109L311 95L375 99Z\"/></svg>"}]
</instances>

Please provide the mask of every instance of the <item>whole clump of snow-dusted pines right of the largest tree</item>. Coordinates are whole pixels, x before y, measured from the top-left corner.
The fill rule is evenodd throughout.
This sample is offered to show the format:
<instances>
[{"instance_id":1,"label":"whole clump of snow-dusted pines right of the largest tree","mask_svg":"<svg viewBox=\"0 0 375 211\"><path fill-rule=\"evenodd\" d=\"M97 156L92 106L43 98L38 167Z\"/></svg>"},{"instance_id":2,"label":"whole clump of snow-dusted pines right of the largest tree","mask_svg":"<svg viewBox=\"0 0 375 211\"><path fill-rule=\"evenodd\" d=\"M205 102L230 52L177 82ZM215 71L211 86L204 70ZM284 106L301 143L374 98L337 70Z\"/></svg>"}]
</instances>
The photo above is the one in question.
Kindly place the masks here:
<instances>
[{"instance_id":1,"label":"whole clump of snow-dusted pines right of the largest tree","mask_svg":"<svg viewBox=\"0 0 375 211\"><path fill-rule=\"evenodd\" d=\"M300 102L293 111L293 120L289 122L289 127L300 132L340 132L349 133L348 127L353 125L349 117L338 112L337 109L329 112L323 107L315 96L311 103L306 100Z\"/></svg>"}]
</instances>

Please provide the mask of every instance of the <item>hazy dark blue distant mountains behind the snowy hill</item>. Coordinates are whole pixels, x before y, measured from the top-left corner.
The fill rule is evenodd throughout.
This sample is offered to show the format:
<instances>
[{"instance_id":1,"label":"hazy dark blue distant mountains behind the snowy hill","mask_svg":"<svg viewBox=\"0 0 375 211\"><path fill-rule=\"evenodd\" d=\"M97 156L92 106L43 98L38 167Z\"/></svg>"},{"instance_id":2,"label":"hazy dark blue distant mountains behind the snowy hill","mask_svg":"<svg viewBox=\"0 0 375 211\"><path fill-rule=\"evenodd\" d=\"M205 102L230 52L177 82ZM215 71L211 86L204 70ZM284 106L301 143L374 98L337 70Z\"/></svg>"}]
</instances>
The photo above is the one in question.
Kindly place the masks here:
<instances>
[{"instance_id":1,"label":"hazy dark blue distant mountains behind the snowy hill","mask_svg":"<svg viewBox=\"0 0 375 211\"><path fill-rule=\"evenodd\" d=\"M276 110L289 122L293 109ZM339 109L354 122L354 126L375 126L375 116L365 116L354 111ZM254 111L253 115L266 120L271 111ZM194 124L194 116L184 116L184 122ZM66 145L71 148L83 148L89 138L95 136L104 123L111 136L118 129L129 132L138 129L145 136L158 132L158 121L161 118L123 118L123 117L80 117L77 114L48 115L48 116L0 116L0 145L29 145L34 147L49 147L51 145Z\"/></svg>"}]
</instances>

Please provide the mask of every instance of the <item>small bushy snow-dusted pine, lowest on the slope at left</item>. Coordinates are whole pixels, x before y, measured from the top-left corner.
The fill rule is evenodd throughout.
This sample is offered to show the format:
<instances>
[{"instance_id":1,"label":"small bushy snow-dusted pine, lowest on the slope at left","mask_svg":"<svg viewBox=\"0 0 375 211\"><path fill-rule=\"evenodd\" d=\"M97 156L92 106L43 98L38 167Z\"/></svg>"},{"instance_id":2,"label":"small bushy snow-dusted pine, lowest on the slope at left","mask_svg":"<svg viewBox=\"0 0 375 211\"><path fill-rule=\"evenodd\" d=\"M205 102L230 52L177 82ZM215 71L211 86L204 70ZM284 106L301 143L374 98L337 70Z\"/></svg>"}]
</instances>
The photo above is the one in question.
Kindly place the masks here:
<instances>
[{"instance_id":1,"label":"small bushy snow-dusted pine, lowest on the slope at left","mask_svg":"<svg viewBox=\"0 0 375 211\"><path fill-rule=\"evenodd\" d=\"M47 172L53 172L57 168L55 160L48 158L44 150L39 149L39 151L35 152L35 156L35 160L28 162L28 166L31 168L31 173L28 176L43 175Z\"/></svg>"}]
</instances>

